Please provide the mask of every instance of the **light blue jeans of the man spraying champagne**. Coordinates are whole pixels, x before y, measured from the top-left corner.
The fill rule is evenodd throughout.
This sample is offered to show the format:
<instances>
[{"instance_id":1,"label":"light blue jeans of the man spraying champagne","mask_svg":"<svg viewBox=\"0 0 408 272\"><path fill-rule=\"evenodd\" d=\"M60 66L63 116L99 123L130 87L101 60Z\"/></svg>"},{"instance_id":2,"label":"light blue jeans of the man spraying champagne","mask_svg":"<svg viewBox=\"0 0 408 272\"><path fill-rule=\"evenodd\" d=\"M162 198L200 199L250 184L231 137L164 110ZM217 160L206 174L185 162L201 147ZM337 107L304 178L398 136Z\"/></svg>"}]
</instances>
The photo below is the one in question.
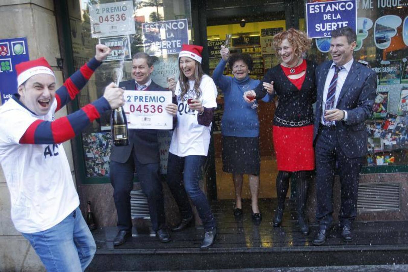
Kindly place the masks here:
<instances>
[{"instance_id":1,"label":"light blue jeans of the man spraying champagne","mask_svg":"<svg viewBox=\"0 0 408 272\"><path fill-rule=\"evenodd\" d=\"M30 241L47 271L84 271L96 251L79 207L48 230L22 235Z\"/></svg>"}]
</instances>

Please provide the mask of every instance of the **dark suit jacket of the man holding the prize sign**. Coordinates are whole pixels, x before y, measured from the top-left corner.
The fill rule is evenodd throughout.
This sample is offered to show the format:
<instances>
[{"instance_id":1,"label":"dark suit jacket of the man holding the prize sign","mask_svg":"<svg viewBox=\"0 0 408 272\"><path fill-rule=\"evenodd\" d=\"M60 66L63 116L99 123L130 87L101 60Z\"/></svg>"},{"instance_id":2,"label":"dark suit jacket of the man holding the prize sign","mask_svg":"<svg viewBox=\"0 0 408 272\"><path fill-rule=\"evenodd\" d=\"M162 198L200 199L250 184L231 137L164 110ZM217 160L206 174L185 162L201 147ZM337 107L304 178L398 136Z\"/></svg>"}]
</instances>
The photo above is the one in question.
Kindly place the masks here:
<instances>
[{"instance_id":1,"label":"dark suit jacket of the man holding the prize sign","mask_svg":"<svg viewBox=\"0 0 408 272\"><path fill-rule=\"evenodd\" d=\"M120 82L119 87L126 87L126 90L135 90L135 80L132 79ZM153 81L148 90L168 91ZM160 162L159 147L156 129L129 129L129 145L113 145L111 150L111 161L125 163L131 155L132 148L134 148L136 158L140 163L158 163Z\"/></svg>"}]
</instances>

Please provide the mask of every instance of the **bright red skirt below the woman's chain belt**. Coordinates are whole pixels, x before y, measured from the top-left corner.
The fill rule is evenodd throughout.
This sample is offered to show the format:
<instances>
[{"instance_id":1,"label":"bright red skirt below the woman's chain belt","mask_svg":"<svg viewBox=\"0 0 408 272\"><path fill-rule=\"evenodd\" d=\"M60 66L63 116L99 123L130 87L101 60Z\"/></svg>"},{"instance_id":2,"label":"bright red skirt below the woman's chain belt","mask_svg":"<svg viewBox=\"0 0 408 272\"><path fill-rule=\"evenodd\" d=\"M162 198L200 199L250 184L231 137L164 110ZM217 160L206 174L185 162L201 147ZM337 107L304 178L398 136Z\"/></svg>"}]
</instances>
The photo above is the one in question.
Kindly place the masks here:
<instances>
[{"instance_id":1,"label":"bright red skirt below the woman's chain belt","mask_svg":"<svg viewBox=\"0 0 408 272\"><path fill-rule=\"evenodd\" d=\"M295 172L315 169L313 125L272 126L272 135L278 170Z\"/></svg>"}]
</instances>

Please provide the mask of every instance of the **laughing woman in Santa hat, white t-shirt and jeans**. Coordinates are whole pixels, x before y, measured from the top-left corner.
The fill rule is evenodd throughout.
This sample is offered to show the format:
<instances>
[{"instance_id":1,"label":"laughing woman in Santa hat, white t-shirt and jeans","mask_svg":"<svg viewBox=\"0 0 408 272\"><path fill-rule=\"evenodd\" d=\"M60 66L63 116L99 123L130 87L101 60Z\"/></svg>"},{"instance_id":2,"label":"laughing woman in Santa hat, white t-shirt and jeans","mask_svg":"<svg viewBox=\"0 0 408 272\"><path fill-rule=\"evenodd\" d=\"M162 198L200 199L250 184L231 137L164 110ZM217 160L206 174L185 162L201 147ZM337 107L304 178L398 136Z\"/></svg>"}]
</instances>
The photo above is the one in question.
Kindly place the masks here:
<instances>
[{"instance_id":1,"label":"laughing woman in Santa hat, white t-shirt and jeans","mask_svg":"<svg viewBox=\"0 0 408 272\"><path fill-rule=\"evenodd\" d=\"M201 248L207 248L214 243L216 226L210 205L198 183L210 144L217 87L202 70L202 49L202 46L183 44L179 54L180 77L175 87L177 126L169 149L167 183L182 215L180 225L172 231L184 230L194 222L189 196L205 230Z\"/></svg>"}]
</instances>

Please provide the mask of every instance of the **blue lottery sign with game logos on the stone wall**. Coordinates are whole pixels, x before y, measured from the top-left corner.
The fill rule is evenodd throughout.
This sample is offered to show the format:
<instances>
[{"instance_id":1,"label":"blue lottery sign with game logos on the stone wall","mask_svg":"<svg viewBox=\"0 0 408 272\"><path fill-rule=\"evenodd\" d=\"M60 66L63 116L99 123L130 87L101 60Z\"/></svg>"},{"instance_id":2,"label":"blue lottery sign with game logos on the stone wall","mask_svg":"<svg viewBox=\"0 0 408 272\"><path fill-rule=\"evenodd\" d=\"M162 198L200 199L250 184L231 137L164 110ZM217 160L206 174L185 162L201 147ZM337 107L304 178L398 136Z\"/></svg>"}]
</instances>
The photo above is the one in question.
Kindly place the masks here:
<instances>
[{"instance_id":1,"label":"blue lottery sign with game logos on the stone wall","mask_svg":"<svg viewBox=\"0 0 408 272\"><path fill-rule=\"evenodd\" d=\"M17 93L16 64L28 60L27 38L0 40L0 94L3 104Z\"/></svg>"}]
</instances>

